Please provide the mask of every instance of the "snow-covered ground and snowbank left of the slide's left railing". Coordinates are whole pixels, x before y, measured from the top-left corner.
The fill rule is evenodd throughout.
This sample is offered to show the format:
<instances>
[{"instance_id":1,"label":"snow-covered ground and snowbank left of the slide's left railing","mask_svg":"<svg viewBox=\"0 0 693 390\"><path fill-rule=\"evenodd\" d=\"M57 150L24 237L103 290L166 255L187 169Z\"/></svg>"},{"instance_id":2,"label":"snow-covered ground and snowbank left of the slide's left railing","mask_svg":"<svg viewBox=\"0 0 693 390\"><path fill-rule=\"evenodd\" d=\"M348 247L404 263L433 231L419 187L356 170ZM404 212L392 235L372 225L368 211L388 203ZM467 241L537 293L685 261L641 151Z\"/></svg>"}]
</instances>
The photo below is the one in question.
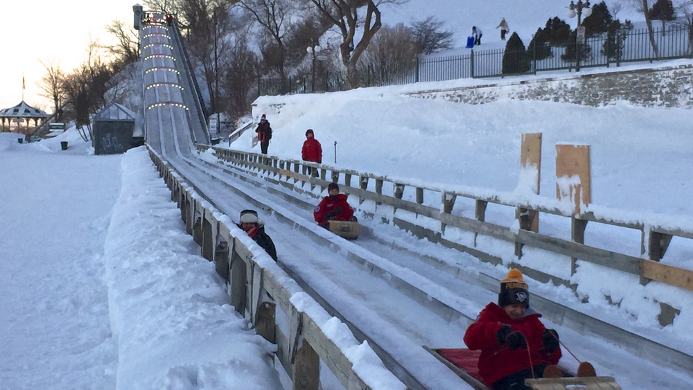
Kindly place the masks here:
<instances>
[{"instance_id":1,"label":"snow-covered ground and snowbank left of the slide's left railing","mask_svg":"<svg viewBox=\"0 0 693 390\"><path fill-rule=\"evenodd\" d=\"M0 388L280 389L146 149L87 147L0 133Z\"/></svg>"}]
</instances>

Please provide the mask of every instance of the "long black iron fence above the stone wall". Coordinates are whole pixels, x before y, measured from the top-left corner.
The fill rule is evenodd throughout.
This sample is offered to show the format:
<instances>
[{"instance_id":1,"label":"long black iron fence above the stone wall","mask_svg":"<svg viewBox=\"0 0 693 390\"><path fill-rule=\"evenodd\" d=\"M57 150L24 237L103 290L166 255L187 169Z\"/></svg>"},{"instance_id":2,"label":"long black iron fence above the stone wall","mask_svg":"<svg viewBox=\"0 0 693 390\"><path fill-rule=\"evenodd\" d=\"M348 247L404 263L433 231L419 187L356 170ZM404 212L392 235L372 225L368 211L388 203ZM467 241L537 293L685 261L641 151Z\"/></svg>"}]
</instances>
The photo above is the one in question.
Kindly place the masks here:
<instances>
[{"instance_id":1,"label":"long black iron fence above the stone wall","mask_svg":"<svg viewBox=\"0 0 693 390\"><path fill-rule=\"evenodd\" d=\"M652 44L654 42L654 44ZM459 78L491 78L540 71L578 70L588 67L620 66L623 62L653 62L693 57L693 29L672 25L647 29L621 28L594 35L584 43L536 46L529 51L470 50L468 54L420 57L411 64L362 67L349 80L347 71L325 71L286 80L261 78L260 95L305 94L346 91L360 87L403 85L414 82L447 81Z\"/></svg>"}]
</instances>

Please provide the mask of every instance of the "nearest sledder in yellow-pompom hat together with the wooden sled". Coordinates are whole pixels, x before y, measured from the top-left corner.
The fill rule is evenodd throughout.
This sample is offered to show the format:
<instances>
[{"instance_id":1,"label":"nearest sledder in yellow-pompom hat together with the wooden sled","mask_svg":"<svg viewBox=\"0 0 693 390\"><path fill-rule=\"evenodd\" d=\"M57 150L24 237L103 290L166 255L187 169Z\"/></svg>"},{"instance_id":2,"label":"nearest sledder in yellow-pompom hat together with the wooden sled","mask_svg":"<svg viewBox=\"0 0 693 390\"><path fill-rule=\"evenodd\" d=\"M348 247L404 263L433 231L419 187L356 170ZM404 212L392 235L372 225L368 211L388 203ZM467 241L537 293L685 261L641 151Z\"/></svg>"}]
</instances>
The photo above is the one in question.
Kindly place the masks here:
<instances>
[{"instance_id":1,"label":"nearest sledder in yellow-pompom hat together with the wooden sled","mask_svg":"<svg viewBox=\"0 0 693 390\"><path fill-rule=\"evenodd\" d=\"M522 273L511 269L500 282L498 304L486 305L464 333L469 349L424 348L477 389L566 389L573 384L620 389L613 378L595 379L594 367L586 362L577 374L589 379L568 378L572 374L556 366L562 356L559 335L545 328L540 317L529 308Z\"/></svg>"}]
</instances>

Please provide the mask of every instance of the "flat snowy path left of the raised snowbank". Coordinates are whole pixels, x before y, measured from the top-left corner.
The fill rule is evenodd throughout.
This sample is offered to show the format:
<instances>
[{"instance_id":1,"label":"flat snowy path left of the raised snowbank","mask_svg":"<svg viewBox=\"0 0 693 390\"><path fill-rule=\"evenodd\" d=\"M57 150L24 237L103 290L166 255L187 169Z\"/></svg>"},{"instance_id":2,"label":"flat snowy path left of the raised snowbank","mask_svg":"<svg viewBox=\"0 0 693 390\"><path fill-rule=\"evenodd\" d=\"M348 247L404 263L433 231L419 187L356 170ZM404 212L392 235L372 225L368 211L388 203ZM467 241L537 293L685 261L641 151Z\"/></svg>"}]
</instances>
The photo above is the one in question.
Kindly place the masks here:
<instances>
[{"instance_id":1,"label":"flat snowy path left of the raised snowbank","mask_svg":"<svg viewBox=\"0 0 693 390\"><path fill-rule=\"evenodd\" d=\"M0 154L3 389L114 387L103 245L121 156L85 161Z\"/></svg>"}]
</instances>

